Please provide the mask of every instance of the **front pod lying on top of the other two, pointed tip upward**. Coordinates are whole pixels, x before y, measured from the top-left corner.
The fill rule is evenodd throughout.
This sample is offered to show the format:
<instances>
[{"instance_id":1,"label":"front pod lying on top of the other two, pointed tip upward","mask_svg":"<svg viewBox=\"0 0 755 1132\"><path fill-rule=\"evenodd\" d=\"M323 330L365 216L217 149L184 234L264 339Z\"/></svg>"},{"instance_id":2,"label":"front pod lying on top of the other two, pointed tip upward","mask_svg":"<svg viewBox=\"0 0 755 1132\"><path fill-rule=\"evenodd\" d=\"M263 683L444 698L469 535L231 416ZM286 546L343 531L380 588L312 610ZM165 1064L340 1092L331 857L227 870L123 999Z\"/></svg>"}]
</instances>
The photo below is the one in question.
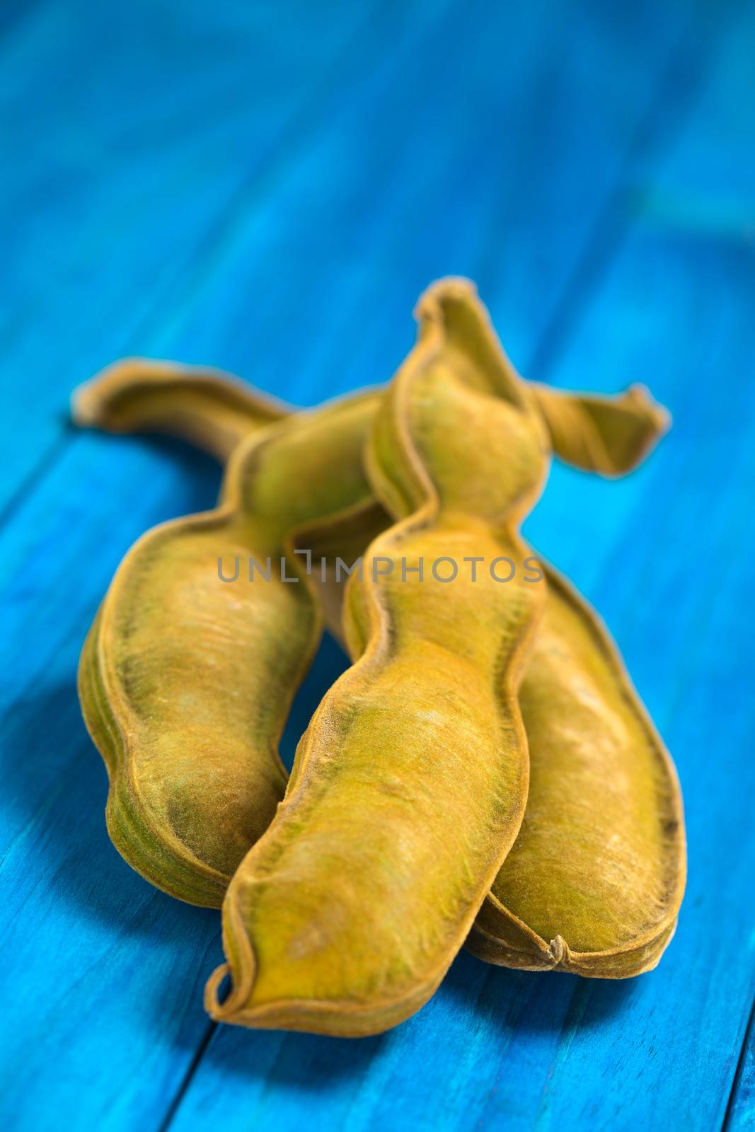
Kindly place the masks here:
<instances>
[{"instance_id":1,"label":"front pod lying on top of the other two, pointed tip upward","mask_svg":"<svg viewBox=\"0 0 755 1132\"><path fill-rule=\"evenodd\" d=\"M349 584L348 634L363 629L364 651L316 711L285 800L231 882L233 988L221 1004L226 968L211 978L216 1019L345 1036L402 1021L440 981L522 821L516 691L544 586L417 574L420 559L428 572L518 559L546 471L540 414L470 303L461 282L426 294L419 344L378 414L372 481L398 522Z\"/></svg>"}]
</instances>

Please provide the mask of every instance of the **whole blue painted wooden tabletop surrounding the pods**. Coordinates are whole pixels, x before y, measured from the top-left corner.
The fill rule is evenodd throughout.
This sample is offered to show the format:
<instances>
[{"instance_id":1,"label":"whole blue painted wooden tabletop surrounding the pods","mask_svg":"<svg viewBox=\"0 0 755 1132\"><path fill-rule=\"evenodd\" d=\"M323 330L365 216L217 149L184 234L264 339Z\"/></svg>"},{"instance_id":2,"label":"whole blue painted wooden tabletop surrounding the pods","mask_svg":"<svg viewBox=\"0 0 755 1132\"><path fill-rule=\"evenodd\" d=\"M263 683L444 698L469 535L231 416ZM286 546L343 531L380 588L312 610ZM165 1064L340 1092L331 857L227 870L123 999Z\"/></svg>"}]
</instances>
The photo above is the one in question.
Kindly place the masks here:
<instances>
[{"instance_id":1,"label":"whole blue painted wooden tabletop surrounding the pods","mask_svg":"<svg viewBox=\"0 0 755 1132\"><path fill-rule=\"evenodd\" d=\"M755 1127L754 55L733 0L2 6L3 1129ZM679 929L621 983L463 953L383 1037L217 1027L218 916L111 847L75 672L122 554L220 472L68 395L143 353L312 404L387 379L449 273L529 377L674 414L625 481L556 468L526 533L676 757Z\"/></svg>"}]
</instances>

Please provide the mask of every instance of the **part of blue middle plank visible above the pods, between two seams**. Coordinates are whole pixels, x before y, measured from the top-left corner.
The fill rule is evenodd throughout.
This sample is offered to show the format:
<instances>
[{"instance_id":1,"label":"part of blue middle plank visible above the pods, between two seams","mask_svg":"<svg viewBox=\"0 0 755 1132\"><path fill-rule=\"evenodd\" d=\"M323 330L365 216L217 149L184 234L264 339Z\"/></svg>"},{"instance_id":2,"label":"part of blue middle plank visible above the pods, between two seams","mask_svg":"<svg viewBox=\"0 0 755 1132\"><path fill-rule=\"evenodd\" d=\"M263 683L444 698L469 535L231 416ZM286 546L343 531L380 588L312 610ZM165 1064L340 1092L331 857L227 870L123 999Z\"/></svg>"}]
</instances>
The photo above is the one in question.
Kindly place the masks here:
<instances>
[{"instance_id":1,"label":"part of blue middle plank visible above the pods, between two seams","mask_svg":"<svg viewBox=\"0 0 755 1132\"><path fill-rule=\"evenodd\" d=\"M660 22L650 5L618 6L611 20L581 2L495 17L487 5L465 6L426 45L435 69L420 80L410 60L379 103L366 89L302 147L298 177L264 211L252 200L240 212L224 263L228 301L215 308L223 365L307 402L381 381L411 343L406 310L429 280L456 273L491 297L507 349L530 369L627 156L636 145L646 153L675 120L651 108L688 18L674 6ZM471 40L475 66L452 83ZM686 46L681 101L706 54L702 37ZM336 331L358 321L361 335L344 351ZM218 327L204 317L201 291L170 331L186 357L206 355L203 335L217 337ZM327 385L312 384L311 360L329 367Z\"/></svg>"}]
</instances>

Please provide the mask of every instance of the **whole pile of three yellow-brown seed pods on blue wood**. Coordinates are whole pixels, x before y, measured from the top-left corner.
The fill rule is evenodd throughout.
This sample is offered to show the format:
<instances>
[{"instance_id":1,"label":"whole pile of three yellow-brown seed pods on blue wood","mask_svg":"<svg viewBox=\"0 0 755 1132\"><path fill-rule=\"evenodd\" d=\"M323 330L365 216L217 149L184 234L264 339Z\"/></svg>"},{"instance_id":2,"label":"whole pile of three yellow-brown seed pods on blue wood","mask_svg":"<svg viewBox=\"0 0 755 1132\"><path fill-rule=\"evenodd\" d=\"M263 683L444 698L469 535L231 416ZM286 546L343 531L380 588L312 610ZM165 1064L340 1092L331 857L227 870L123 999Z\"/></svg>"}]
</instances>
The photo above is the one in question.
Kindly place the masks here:
<instances>
[{"instance_id":1,"label":"whole pile of three yellow-brown seed pods on blue wood","mask_svg":"<svg viewBox=\"0 0 755 1132\"><path fill-rule=\"evenodd\" d=\"M388 386L316 410L144 359L74 395L81 424L225 463L214 511L126 555L79 696L120 854L222 906L205 1002L226 1022L375 1034L462 944L625 978L676 926L672 764L606 628L518 533L554 453L621 475L667 414L637 386L523 380L464 280L415 316ZM286 781L277 744L324 626L352 666Z\"/></svg>"}]
</instances>

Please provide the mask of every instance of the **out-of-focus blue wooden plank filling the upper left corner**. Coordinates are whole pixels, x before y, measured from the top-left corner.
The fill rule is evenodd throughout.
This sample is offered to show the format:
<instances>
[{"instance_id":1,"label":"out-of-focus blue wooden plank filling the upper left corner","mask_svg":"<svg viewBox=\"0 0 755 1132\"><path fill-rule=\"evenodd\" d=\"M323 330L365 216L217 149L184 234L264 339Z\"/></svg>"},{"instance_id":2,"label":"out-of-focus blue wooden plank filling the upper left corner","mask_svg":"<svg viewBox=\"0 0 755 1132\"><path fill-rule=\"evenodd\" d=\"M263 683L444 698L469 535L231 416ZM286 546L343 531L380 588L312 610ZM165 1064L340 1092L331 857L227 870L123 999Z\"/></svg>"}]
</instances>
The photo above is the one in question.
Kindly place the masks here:
<instances>
[{"instance_id":1,"label":"out-of-focus blue wooden plank filling the upper left corner","mask_svg":"<svg viewBox=\"0 0 755 1132\"><path fill-rule=\"evenodd\" d=\"M238 209L275 192L354 89L379 96L393 52L447 5L49 0L0 44L15 158L0 189L0 505L58 438L71 386L147 344Z\"/></svg>"}]
</instances>

